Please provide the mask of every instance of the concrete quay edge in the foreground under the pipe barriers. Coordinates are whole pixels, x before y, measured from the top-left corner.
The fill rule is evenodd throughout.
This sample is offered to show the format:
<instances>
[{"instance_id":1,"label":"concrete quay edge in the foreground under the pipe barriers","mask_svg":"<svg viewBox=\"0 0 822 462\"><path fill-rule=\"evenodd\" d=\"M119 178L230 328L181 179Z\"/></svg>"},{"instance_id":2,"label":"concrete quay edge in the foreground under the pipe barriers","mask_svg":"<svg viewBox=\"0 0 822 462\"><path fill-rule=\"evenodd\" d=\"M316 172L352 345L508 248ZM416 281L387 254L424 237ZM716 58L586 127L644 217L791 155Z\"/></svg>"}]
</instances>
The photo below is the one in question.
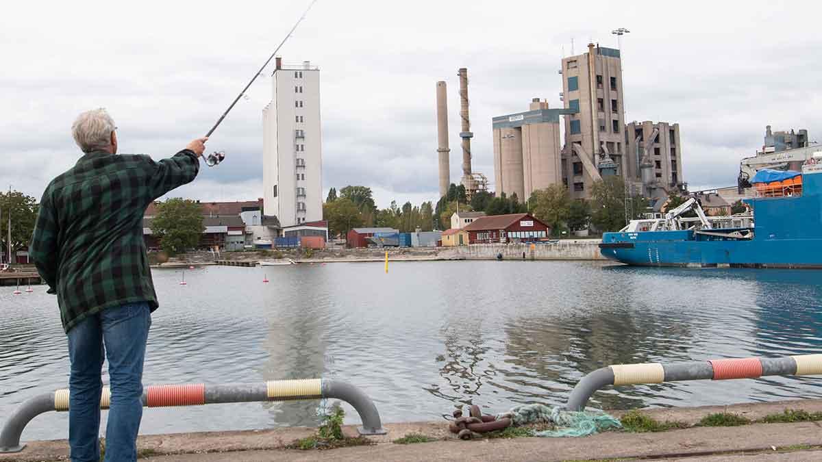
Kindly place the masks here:
<instances>
[{"instance_id":1,"label":"concrete quay edge in the foreground under the pipe barriers","mask_svg":"<svg viewBox=\"0 0 822 462\"><path fill-rule=\"evenodd\" d=\"M819 422L751 423L739 427L695 426L709 413L735 413L755 420L785 409L822 412L822 400L735 404L699 408L644 409L658 421L678 421L692 427L667 432L604 432L583 438L481 439L460 441L447 430L445 420L426 423L389 423L386 436L369 437L372 446L333 450L293 450L286 446L311 436L315 429L289 427L243 432L201 432L145 435L138 441L145 460L680 460L782 461L822 460ZM494 411L500 409L493 409ZM491 412L492 409L487 409ZM613 411L620 416L624 412ZM43 416L41 418L47 418ZM354 426L344 427L356 436ZM409 445L394 440L409 433L436 441ZM25 434L24 434L25 437ZM65 440L30 441L21 453L0 455L0 462L67 460Z\"/></svg>"}]
</instances>

